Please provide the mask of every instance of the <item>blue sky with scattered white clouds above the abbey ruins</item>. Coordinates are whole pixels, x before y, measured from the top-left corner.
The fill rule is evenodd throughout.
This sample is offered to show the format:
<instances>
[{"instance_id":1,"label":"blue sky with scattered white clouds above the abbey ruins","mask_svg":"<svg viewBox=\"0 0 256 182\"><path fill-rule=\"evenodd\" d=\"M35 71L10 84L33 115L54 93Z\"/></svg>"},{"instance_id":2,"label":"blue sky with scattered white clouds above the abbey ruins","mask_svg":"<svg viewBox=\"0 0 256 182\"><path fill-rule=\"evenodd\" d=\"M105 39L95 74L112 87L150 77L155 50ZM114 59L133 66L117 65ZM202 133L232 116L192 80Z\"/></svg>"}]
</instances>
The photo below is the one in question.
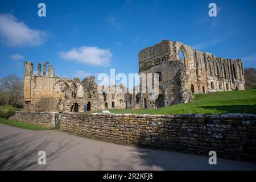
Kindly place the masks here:
<instances>
[{"instance_id":1,"label":"blue sky with scattered white clouds above the abbey ruins","mask_svg":"<svg viewBox=\"0 0 256 182\"><path fill-rule=\"evenodd\" d=\"M255 22L256 1L1 1L0 77L22 77L24 60L49 61L60 77L137 73L139 51L162 39L256 68Z\"/></svg>"}]
</instances>

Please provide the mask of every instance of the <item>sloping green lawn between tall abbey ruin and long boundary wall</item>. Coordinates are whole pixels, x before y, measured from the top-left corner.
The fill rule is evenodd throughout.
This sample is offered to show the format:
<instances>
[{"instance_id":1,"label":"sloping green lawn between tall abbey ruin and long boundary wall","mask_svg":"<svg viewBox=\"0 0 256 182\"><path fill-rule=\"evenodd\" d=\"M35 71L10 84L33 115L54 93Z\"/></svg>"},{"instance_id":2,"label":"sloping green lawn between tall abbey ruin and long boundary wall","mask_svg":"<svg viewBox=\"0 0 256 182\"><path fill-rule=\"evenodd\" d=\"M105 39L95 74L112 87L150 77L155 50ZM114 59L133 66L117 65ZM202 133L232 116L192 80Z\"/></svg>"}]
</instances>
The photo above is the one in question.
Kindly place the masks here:
<instances>
[{"instance_id":1,"label":"sloping green lawn between tall abbey ruin and long boundary wall","mask_svg":"<svg viewBox=\"0 0 256 182\"><path fill-rule=\"evenodd\" d=\"M256 114L256 89L195 94L195 100L186 104L159 109L112 109L110 113L137 114Z\"/></svg>"}]
</instances>

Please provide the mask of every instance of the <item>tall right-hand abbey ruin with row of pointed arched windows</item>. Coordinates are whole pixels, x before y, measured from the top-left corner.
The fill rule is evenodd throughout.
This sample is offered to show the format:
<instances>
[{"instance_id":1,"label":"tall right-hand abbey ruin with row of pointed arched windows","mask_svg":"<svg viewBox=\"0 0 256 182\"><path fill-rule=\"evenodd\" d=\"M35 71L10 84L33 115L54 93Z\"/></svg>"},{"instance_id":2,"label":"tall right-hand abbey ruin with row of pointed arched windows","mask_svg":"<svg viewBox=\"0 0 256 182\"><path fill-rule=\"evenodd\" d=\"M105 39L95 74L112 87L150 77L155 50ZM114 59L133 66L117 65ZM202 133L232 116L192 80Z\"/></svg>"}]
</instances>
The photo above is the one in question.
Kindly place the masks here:
<instances>
[{"instance_id":1,"label":"tall right-hand abbey ruin with row of pointed arched windows","mask_svg":"<svg viewBox=\"0 0 256 182\"><path fill-rule=\"evenodd\" d=\"M180 59L179 51L184 59ZM160 74L160 100L164 100L160 106L189 102L192 93L245 89L241 59L224 59L168 40L139 52L139 73ZM147 101L148 93L142 97ZM147 108L158 107L158 100L147 102Z\"/></svg>"}]
</instances>

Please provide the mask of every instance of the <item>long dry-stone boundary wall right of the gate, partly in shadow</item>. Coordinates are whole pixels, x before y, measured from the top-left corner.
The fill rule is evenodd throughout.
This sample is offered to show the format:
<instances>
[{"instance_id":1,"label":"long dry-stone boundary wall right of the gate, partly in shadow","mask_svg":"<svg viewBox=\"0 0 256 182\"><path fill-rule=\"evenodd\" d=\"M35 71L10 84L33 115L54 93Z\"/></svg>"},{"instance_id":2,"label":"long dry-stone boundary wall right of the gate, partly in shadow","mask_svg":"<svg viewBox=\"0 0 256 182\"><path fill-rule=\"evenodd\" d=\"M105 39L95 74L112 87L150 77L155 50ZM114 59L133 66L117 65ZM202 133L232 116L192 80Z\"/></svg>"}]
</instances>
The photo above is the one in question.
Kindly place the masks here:
<instances>
[{"instance_id":1,"label":"long dry-stone boundary wall right of the gate, partly in shadow","mask_svg":"<svg viewBox=\"0 0 256 182\"><path fill-rule=\"evenodd\" d=\"M256 115L63 113L61 131L137 146L256 162Z\"/></svg>"}]
</instances>

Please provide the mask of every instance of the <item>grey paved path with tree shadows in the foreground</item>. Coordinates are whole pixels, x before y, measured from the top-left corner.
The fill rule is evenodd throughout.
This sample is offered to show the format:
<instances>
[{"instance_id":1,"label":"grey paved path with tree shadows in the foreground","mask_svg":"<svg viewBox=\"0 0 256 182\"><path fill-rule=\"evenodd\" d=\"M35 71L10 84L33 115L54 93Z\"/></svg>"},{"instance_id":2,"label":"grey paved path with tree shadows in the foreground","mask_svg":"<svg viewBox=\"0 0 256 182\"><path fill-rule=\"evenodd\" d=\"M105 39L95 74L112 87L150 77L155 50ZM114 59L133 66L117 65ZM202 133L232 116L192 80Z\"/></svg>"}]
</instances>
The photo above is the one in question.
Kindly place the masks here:
<instances>
[{"instance_id":1,"label":"grey paved path with tree shadows in the foreground","mask_svg":"<svg viewBox=\"0 0 256 182\"><path fill-rule=\"evenodd\" d=\"M46 165L38 164L38 151L46 151ZM1 170L237 170L255 163L207 156L150 150L77 137L57 130L30 131L0 124Z\"/></svg>"}]
</instances>

